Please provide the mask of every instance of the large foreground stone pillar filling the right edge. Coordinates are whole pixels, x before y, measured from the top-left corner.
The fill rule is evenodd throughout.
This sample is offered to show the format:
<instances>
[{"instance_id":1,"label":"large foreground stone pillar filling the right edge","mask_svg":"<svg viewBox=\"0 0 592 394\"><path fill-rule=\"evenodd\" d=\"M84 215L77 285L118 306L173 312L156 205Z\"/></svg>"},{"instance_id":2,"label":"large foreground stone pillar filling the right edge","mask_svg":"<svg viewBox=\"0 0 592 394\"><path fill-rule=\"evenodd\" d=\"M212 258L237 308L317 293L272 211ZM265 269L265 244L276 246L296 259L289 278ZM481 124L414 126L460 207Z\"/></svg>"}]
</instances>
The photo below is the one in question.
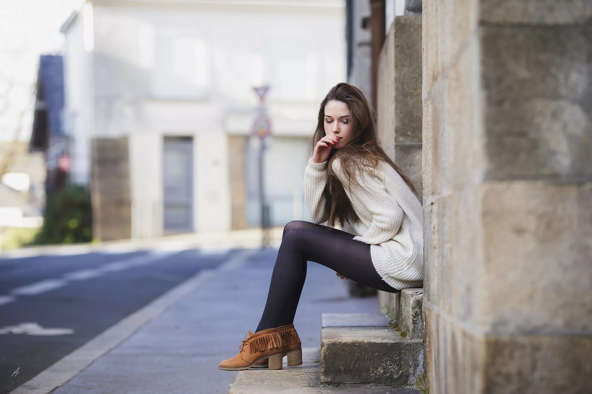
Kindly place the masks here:
<instances>
[{"instance_id":1,"label":"large foreground stone pillar filling the right edge","mask_svg":"<svg viewBox=\"0 0 592 394\"><path fill-rule=\"evenodd\" d=\"M591 17L423 2L430 394L590 392Z\"/></svg>"}]
</instances>

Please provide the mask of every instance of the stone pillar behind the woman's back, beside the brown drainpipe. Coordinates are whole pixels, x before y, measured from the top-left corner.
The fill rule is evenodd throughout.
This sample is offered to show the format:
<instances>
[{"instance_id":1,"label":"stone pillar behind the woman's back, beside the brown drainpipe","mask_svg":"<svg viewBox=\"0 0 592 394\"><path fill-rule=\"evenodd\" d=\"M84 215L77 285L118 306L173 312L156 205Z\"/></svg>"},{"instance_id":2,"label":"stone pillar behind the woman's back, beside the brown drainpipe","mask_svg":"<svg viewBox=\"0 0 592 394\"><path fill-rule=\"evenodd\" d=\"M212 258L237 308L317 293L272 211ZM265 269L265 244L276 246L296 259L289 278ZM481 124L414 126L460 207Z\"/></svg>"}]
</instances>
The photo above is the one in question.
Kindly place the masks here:
<instances>
[{"instance_id":1,"label":"stone pillar behind the woman's back, beside the brown drainpipe","mask_svg":"<svg viewBox=\"0 0 592 394\"><path fill-rule=\"evenodd\" d=\"M378 63L378 138L422 201L422 15L393 19ZM398 294L379 292L379 312L398 315Z\"/></svg>"}]
</instances>

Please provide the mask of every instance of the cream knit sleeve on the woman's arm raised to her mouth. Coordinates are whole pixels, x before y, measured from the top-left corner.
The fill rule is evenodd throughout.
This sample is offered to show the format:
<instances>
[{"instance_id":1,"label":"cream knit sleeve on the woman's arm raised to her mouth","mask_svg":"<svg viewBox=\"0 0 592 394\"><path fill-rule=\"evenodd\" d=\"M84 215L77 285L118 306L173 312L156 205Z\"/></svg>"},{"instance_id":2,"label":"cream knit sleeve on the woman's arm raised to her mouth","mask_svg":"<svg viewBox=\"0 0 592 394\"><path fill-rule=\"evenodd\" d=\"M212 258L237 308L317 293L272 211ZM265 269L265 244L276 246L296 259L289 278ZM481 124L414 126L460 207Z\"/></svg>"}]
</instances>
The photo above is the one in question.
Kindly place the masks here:
<instances>
[{"instance_id":1,"label":"cream knit sleeve on the woman's arm raised to her mouth","mask_svg":"<svg viewBox=\"0 0 592 394\"><path fill-rule=\"evenodd\" d=\"M323 220L325 214L323 190L327 184L326 165L327 161L316 163L310 158L304 171L304 201L308 209L308 214L310 214L310 219L314 224L320 224L326 221Z\"/></svg>"}]
</instances>

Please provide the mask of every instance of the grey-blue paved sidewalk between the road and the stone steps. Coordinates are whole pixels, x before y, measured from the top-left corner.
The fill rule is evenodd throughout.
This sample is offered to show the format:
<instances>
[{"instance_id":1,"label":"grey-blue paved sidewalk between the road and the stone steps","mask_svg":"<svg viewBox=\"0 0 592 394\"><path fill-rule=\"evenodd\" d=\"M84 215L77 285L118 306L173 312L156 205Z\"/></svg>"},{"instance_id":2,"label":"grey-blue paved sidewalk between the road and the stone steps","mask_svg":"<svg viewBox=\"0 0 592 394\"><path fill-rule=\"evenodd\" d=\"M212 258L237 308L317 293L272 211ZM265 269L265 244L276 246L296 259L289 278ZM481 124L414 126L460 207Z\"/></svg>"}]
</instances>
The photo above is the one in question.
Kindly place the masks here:
<instances>
[{"instance_id":1,"label":"grey-blue paved sidewalk between the road and the stone steps","mask_svg":"<svg viewBox=\"0 0 592 394\"><path fill-rule=\"evenodd\" d=\"M175 288L160 297L172 299L169 293L175 291L181 294L123 341L112 344L110 350L101 353L96 346L76 350L65 357L69 358L67 363L60 364L60 360L25 383L26 388L22 385L12 393L50 392L53 388L48 383L62 374L65 383L52 393L226 394L239 372L219 370L218 363L237 354L244 334L255 330L277 255L276 248L239 252L235 254L243 257L178 286L185 290ZM166 304L160 298L130 320L145 318L157 305ZM374 312L377 305L376 297L349 298L345 281L330 269L309 262L294 324L303 347L318 348L322 312ZM114 336L105 337L112 340ZM89 354L94 362L86 359L86 366ZM81 372L76 374L76 368ZM67 373L72 374L71 379L63 379Z\"/></svg>"}]
</instances>

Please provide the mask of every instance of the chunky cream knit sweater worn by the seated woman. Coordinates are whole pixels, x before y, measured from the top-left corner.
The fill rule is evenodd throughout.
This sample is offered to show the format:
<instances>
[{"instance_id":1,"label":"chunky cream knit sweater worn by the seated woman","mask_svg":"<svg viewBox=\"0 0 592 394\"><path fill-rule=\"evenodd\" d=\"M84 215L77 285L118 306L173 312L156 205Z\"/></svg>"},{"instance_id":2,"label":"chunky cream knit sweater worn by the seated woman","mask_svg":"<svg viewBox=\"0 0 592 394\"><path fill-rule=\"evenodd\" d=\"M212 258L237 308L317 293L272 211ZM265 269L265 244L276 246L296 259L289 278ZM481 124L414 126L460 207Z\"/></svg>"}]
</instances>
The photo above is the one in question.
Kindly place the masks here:
<instances>
[{"instance_id":1,"label":"chunky cream knit sweater worn by the seated woman","mask_svg":"<svg viewBox=\"0 0 592 394\"><path fill-rule=\"evenodd\" d=\"M309 159L304 173L304 200L313 223L323 218L327 183L327 161L315 163ZM352 173L359 184L348 189L346 174L334 159L333 170L353 209L361 219L351 223L361 234L353 239L369 243L374 268L395 289L423 286L423 207L401 175L387 162L380 161L374 174L364 165L362 174L356 165Z\"/></svg>"}]
</instances>

